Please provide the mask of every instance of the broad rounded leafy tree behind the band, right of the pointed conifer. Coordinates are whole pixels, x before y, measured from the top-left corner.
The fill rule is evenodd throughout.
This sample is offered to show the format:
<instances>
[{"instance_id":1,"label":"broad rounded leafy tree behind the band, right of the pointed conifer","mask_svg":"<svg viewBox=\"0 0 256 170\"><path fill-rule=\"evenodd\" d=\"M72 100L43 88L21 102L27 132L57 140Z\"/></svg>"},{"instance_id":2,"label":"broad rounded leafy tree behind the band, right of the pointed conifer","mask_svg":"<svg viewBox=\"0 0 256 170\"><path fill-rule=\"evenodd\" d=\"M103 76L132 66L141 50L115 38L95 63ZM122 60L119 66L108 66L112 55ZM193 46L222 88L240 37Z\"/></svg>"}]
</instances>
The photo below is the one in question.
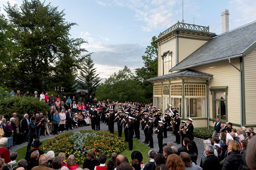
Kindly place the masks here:
<instances>
[{"instance_id":1,"label":"broad rounded leafy tree behind the band, right of the pointed conifer","mask_svg":"<svg viewBox=\"0 0 256 170\"><path fill-rule=\"evenodd\" d=\"M98 100L110 101L137 101L143 102L143 93L140 82L136 80L134 73L125 66L123 70L110 75L96 90Z\"/></svg>"}]
</instances>

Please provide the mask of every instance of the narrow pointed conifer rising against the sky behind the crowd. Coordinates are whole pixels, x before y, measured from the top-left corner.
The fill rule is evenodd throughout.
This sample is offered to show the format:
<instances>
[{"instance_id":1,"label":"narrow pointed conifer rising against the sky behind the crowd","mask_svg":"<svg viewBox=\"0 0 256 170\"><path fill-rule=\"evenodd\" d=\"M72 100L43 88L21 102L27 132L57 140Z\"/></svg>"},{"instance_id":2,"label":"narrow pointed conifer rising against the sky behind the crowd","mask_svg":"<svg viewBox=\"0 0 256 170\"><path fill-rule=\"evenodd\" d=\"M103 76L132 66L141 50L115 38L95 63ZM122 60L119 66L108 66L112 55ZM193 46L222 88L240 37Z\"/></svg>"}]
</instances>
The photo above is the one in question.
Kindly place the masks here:
<instances>
[{"instance_id":1,"label":"narrow pointed conifer rising against the sky behind the crowd","mask_svg":"<svg viewBox=\"0 0 256 170\"><path fill-rule=\"evenodd\" d=\"M84 60L81 64L81 69L79 73L78 86L82 89L88 89L88 96L95 96L95 91L100 85L99 75L96 74L96 68L94 68L93 59L91 54L83 56Z\"/></svg>"}]
</instances>

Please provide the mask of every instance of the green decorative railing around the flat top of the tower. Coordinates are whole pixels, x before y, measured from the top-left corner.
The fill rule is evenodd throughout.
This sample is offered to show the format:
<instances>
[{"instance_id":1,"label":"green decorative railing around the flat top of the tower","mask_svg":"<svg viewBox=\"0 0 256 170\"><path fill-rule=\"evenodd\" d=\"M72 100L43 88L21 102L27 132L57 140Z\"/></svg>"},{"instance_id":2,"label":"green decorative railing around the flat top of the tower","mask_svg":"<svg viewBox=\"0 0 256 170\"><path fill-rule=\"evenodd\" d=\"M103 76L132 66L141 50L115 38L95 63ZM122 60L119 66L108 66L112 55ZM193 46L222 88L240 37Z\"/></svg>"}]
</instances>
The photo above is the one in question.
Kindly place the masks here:
<instances>
[{"instance_id":1,"label":"green decorative railing around the flat top of the tower","mask_svg":"<svg viewBox=\"0 0 256 170\"><path fill-rule=\"evenodd\" d=\"M187 30L193 30L193 31L199 31L199 32L205 32L209 33L209 26L200 26L200 25L195 25L195 24L186 24L186 23L180 23L179 21L171 26L170 28L166 29L163 32L160 32L158 38L164 36L165 34L173 31L175 28L182 28L182 29L187 29Z\"/></svg>"}]
</instances>

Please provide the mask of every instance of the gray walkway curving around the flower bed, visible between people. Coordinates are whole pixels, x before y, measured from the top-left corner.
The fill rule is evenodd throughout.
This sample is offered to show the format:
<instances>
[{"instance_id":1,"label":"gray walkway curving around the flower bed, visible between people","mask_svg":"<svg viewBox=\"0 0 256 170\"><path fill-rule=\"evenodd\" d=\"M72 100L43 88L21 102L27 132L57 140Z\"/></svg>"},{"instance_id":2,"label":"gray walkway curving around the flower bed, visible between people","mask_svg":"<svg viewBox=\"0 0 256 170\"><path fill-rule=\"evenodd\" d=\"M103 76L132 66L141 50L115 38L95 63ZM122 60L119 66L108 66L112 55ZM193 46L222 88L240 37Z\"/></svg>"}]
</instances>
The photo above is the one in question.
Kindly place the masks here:
<instances>
[{"instance_id":1,"label":"gray walkway curving around the flower bed, visible between people","mask_svg":"<svg viewBox=\"0 0 256 170\"><path fill-rule=\"evenodd\" d=\"M84 126L84 127L79 127L79 128L74 128L72 131L78 131L78 130L83 130L83 129L91 129L91 126ZM106 126L106 124L103 124L101 123L101 130L103 131L106 131L108 130L108 126ZM115 131L117 131L117 124L115 123ZM67 131L65 131L67 132ZM59 132L58 132L59 133ZM60 134L63 134L64 132L61 132L59 133ZM51 136L44 136L42 138L40 138L40 140L46 140L46 139L50 139L50 138L54 138L56 137L57 135L51 135ZM153 136L153 140L154 140L154 148L153 150L155 150L156 152L159 151L159 147L158 147L158 140L157 140L157 134L154 134ZM139 141L140 142L143 142L145 139L144 137L144 133L143 133L143 130L140 130L140 139ZM169 141L172 141L172 142L175 142L175 136L172 134L171 131L167 131L167 138L163 139L163 143L167 143ZM198 159L197 159L197 165L200 165L200 160L201 160L201 156L202 156L202 153L204 151L204 147L203 147L203 141L201 139L197 139L195 138L194 141L196 142L197 144L197 148L198 148ZM27 145L27 142L25 143L22 143L20 145L15 145L13 146L13 148L10 149L10 152L13 152L13 151L16 151L18 150L19 148L23 147L23 146L26 146ZM148 145L148 144L147 144ZM174 143L174 145L179 148L181 147L181 144L180 145L177 145L176 143ZM150 150L150 148L149 148Z\"/></svg>"}]
</instances>

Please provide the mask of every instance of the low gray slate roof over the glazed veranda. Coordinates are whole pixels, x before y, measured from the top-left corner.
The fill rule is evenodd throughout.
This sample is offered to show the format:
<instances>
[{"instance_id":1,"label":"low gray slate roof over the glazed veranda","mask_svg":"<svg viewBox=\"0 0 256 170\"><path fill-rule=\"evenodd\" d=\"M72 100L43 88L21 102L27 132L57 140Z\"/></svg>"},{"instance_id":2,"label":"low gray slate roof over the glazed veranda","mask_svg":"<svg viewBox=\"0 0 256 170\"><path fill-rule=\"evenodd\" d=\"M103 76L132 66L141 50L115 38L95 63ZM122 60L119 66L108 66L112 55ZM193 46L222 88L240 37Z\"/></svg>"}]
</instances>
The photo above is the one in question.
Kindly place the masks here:
<instances>
[{"instance_id":1,"label":"low gray slate roof over the glazed veranda","mask_svg":"<svg viewBox=\"0 0 256 170\"><path fill-rule=\"evenodd\" d=\"M175 73L171 73L171 74L165 74L165 75L161 75L161 76L158 76L158 77L153 77L153 78L148 79L147 81L169 79L169 78L173 78L173 77L212 78L213 75L212 74L208 74L208 73L204 73L204 72L200 72L200 71L186 69L184 71L179 71L179 72L175 72Z\"/></svg>"}]
</instances>

